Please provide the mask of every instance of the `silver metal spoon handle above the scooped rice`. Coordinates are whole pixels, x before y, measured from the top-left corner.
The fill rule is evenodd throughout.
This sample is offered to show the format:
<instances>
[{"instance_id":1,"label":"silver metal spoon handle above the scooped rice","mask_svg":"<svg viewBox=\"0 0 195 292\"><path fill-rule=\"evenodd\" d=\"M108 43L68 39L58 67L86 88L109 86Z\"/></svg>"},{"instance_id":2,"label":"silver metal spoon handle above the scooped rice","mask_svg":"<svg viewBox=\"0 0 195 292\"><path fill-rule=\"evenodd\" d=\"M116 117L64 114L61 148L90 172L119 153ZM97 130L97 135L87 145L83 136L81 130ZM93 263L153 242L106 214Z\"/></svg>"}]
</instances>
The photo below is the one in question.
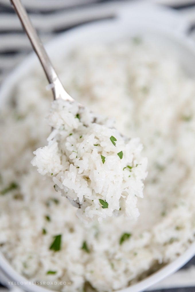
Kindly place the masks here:
<instances>
[{"instance_id":1,"label":"silver metal spoon handle above the scooped rice","mask_svg":"<svg viewBox=\"0 0 195 292\"><path fill-rule=\"evenodd\" d=\"M20 0L10 1L11 4L13 4L15 12L17 13L20 22L23 25L23 28L32 44L34 52L37 54L41 62L49 84L52 85L51 89L54 99L63 98L65 100L73 101L73 98L71 98L70 95L65 91L58 75L56 74L56 71L54 70L54 67L51 65L51 61L49 60L49 57L44 49L42 41L39 39L39 36L37 35L37 32L34 29L23 4L20 2Z\"/></svg>"}]
</instances>

